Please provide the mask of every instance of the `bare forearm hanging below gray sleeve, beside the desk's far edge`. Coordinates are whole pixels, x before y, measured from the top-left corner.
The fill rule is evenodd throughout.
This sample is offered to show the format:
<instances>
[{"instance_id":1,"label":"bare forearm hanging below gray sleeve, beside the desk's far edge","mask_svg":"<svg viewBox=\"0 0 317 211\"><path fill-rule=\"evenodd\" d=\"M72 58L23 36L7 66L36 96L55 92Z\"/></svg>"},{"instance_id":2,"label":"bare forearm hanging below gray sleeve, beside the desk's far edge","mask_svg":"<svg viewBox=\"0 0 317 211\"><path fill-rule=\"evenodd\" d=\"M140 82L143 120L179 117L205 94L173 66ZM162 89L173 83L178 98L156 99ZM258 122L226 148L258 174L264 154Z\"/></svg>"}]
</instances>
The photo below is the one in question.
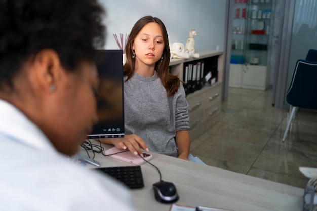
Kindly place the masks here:
<instances>
[{"instance_id":1,"label":"bare forearm hanging below gray sleeve, beside the desk's far edge","mask_svg":"<svg viewBox=\"0 0 317 211\"><path fill-rule=\"evenodd\" d=\"M175 141L178 147L178 158L188 160L190 136L187 130L177 131Z\"/></svg>"}]
</instances>

